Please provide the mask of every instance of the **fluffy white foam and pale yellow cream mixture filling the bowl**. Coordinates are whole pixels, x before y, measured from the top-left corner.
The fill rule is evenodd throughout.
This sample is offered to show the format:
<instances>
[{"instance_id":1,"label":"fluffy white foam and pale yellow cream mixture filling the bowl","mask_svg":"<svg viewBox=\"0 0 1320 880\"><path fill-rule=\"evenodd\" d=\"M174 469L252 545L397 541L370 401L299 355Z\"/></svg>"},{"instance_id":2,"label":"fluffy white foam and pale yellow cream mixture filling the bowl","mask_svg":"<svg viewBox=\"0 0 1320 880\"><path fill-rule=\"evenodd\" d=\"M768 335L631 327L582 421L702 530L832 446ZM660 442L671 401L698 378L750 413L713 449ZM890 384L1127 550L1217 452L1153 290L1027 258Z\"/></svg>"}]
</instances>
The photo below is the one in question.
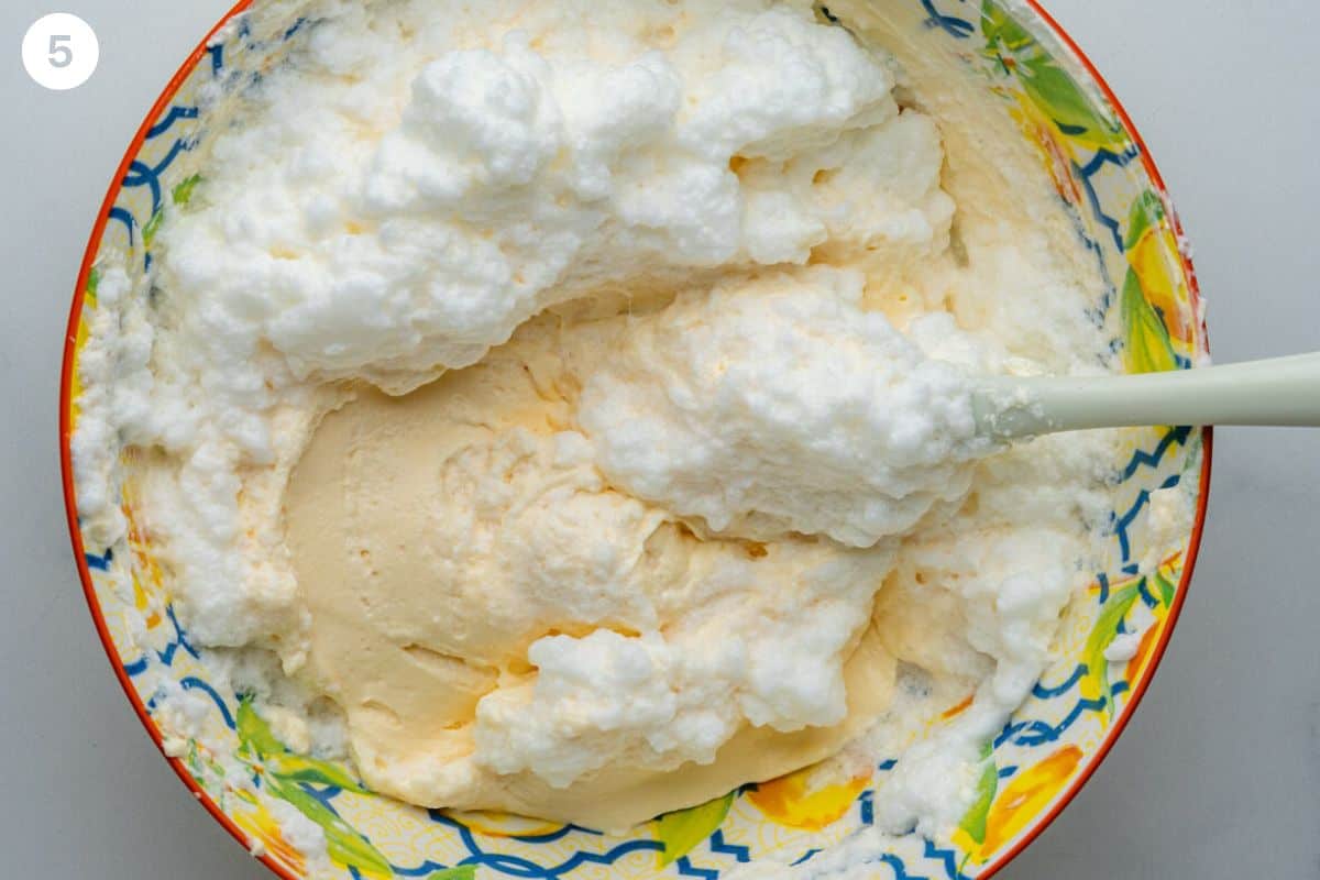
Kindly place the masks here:
<instances>
[{"instance_id":1,"label":"fluffy white foam and pale yellow cream mixture filling the bowl","mask_svg":"<svg viewBox=\"0 0 1320 880\"><path fill-rule=\"evenodd\" d=\"M969 376L1106 368L1012 123L803 3L302 12L154 296L103 267L87 534L127 484L194 639L379 792L620 829L902 753L879 826L945 835L1121 446L974 437Z\"/></svg>"}]
</instances>

